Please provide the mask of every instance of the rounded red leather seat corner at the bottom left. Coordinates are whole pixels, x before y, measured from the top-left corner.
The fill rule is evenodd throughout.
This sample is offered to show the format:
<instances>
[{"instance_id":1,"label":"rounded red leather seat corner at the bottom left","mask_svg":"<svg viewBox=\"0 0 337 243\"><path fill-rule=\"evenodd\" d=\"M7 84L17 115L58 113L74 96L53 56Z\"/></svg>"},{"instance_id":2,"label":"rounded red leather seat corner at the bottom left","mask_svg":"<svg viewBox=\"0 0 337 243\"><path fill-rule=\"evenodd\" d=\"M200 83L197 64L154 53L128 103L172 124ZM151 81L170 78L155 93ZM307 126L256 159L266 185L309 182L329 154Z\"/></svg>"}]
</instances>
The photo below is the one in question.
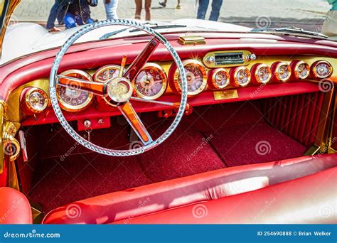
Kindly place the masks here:
<instances>
[{"instance_id":1,"label":"rounded red leather seat corner at the bottom left","mask_svg":"<svg viewBox=\"0 0 337 243\"><path fill-rule=\"evenodd\" d=\"M0 224L31 224L31 205L25 195L12 188L0 188Z\"/></svg>"}]
</instances>

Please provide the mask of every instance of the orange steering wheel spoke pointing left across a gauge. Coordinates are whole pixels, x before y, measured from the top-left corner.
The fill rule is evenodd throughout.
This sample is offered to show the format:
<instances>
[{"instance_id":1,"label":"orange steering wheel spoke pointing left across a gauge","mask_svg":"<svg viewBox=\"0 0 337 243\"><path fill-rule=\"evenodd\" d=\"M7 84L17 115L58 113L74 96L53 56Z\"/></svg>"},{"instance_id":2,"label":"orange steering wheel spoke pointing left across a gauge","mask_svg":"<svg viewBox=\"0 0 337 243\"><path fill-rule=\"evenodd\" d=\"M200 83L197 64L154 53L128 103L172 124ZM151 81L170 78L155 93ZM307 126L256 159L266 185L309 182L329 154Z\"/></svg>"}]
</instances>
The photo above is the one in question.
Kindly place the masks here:
<instances>
[{"instance_id":1,"label":"orange steering wheel spoke pointing left across a gauge","mask_svg":"<svg viewBox=\"0 0 337 243\"><path fill-rule=\"evenodd\" d=\"M90 82L88 80L82 80L77 77L68 77L63 75L57 75L58 85L63 87L69 87L76 90L85 90L94 93L95 95L103 96L104 84L100 82Z\"/></svg>"}]
</instances>

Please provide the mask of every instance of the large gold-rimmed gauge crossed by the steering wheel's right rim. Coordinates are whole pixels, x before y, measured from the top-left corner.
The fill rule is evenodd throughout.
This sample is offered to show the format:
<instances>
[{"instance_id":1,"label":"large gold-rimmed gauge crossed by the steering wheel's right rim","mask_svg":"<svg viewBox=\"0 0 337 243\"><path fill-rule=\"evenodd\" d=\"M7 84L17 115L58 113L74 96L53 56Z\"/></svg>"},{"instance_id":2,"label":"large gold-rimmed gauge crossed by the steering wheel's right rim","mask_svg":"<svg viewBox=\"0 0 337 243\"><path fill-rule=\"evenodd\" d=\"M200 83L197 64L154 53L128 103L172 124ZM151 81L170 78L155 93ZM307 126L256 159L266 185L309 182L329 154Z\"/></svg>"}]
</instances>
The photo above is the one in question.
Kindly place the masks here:
<instances>
[{"instance_id":1,"label":"large gold-rimmed gauge crossed by the steering wheel's right rim","mask_svg":"<svg viewBox=\"0 0 337 243\"><path fill-rule=\"evenodd\" d=\"M203 63L198 60L184 60L183 67L187 77L187 95L193 96L203 92L207 85L207 72ZM178 70L174 74L174 87L177 92L181 92L181 77Z\"/></svg>"}]
</instances>

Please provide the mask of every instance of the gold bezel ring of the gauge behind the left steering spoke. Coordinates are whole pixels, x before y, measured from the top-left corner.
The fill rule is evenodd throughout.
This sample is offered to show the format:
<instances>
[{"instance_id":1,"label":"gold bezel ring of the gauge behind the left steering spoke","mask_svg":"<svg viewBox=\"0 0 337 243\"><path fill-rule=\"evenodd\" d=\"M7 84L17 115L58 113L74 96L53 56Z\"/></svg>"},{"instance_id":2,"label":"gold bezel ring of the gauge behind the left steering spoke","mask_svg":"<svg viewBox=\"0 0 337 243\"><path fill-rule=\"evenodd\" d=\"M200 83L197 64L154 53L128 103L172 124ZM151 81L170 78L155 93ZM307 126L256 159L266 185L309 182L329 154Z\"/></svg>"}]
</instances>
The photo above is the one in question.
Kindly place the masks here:
<instances>
[{"instance_id":1,"label":"gold bezel ring of the gauge behind the left steering spoke","mask_svg":"<svg viewBox=\"0 0 337 243\"><path fill-rule=\"evenodd\" d=\"M85 71L82 71L82 70L71 69L71 70L66 70L65 72L60 73L60 75L63 75L63 76L68 76L68 75L71 75L71 74L81 75L82 77L85 77L88 81L94 82L91 75L89 73L85 72ZM56 95L58 97L58 102L60 104L60 107L67 112L80 112L83 109L86 109L87 107L89 107L89 105L93 101L92 92L87 92L87 91L82 90L81 92L87 92L88 93L88 97L85 100L85 102L83 102L82 104L77 104L77 105L68 104L67 102L65 102L62 99L62 97L60 97L59 89L60 89L60 87L57 86L56 87Z\"/></svg>"}]
</instances>

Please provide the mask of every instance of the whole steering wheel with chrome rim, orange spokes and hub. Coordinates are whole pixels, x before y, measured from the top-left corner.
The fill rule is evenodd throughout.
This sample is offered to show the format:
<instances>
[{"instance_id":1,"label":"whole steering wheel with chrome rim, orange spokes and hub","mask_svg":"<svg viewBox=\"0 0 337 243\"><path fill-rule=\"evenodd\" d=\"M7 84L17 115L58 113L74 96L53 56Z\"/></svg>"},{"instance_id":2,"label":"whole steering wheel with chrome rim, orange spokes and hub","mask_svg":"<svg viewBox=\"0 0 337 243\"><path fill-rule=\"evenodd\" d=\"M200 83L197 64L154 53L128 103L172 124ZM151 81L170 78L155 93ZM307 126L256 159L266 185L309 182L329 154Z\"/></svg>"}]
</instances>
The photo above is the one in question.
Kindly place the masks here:
<instances>
[{"instance_id":1,"label":"whole steering wheel with chrome rim, orange spokes and hub","mask_svg":"<svg viewBox=\"0 0 337 243\"><path fill-rule=\"evenodd\" d=\"M151 41L149 41L144 50L142 50L141 53L137 56L137 58L132 62L132 64L129 65L129 68L125 72L123 72L123 68L125 65L125 58L123 58L121 70L119 70L119 77L114 77L112 79L107 80L104 83L89 82L87 80L82 80L75 77L65 77L58 75L58 68L68 48L70 48L70 46L73 45L73 43L77 41L77 39L83 36L85 33L88 33L96 28L100 28L103 26L129 26L133 28L138 28L141 31L149 33L149 35L153 36L153 38L151 39ZM133 94L132 80L134 80L134 78L137 77L137 75L141 71L141 68L144 67L144 65L146 64L147 60L149 60L156 47L158 47L159 43L163 44L169 51L181 75L181 102L177 103L159 102L155 100L146 100L137 97L132 97ZM132 129L134 129L140 141L143 143L143 146L125 150L104 148L102 146L97 146L96 144L93 144L90 141L87 141L82 136L77 134L77 132L73 129L72 126L70 126L68 121L65 119L58 104L58 97L56 95L56 87L58 85L63 87L70 87L72 89L76 88L79 90L85 90L88 92L92 92L95 95L103 97L103 99L105 100L105 102L107 102L107 104L119 109L119 111L123 114L125 119L127 119ZM174 50L172 45L169 43L169 41L166 40L166 38L164 38L164 36L161 36L161 34L157 33L153 29L146 27L143 24L138 23L136 21L125 19L112 19L106 21L98 21L96 23L90 23L89 25L80 28L80 30L75 32L73 36L70 36L70 38L68 38L68 40L65 41L63 46L58 51L58 54L56 55L53 65L51 67L49 91L50 91L51 104L53 106L56 117L58 117L58 120L60 121L60 124L63 126L65 131L67 131L68 134L73 139L75 139L75 141L77 141L79 144L82 144L82 146L89 148L92 151L102 153L107 156L133 156L140 153L144 153L145 151L148 151L151 148L154 148L159 144L163 143L167 138L169 138L169 136L176 129L186 109L187 78L181 59L176 53L176 50ZM146 130L146 127L142 123L141 119L139 118L138 114L133 109L131 103L132 100L137 100L138 102L151 102L154 104L156 103L164 104L167 106L178 108L178 112L169 128L166 129L166 131L163 134L161 134L161 136L159 136L158 139L153 140L149 132Z\"/></svg>"}]
</instances>

